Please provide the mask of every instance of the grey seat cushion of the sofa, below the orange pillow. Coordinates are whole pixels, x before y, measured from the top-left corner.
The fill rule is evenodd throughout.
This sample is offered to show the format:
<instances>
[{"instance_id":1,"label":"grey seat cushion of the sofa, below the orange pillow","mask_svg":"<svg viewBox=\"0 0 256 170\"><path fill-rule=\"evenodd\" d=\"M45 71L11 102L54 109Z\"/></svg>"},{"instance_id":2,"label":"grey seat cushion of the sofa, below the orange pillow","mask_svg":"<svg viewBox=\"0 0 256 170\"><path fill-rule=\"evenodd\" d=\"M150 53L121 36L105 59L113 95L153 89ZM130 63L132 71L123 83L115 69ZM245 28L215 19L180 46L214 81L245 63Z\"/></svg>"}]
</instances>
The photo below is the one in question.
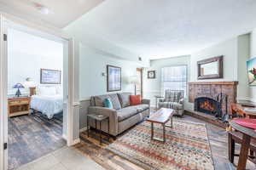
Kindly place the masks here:
<instances>
[{"instance_id":1,"label":"grey seat cushion of the sofa, below the orange pillow","mask_svg":"<svg viewBox=\"0 0 256 170\"><path fill-rule=\"evenodd\" d=\"M117 111L118 122L122 122L125 119L131 116L134 116L141 111L145 111L148 108L149 108L148 105L142 104L142 105L132 105L132 106L128 106L123 109L120 109L119 111Z\"/></svg>"}]
</instances>

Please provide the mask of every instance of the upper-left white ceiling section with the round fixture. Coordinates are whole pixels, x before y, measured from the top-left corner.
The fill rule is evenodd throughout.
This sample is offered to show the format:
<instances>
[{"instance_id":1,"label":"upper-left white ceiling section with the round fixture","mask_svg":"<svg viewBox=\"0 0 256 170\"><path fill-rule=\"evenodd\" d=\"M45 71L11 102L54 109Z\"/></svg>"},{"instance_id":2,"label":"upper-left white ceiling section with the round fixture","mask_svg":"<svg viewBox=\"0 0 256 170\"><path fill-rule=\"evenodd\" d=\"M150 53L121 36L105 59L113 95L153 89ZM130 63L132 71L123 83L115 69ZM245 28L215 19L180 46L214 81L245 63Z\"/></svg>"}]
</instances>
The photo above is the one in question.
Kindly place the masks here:
<instances>
[{"instance_id":1,"label":"upper-left white ceiling section with the round fixture","mask_svg":"<svg viewBox=\"0 0 256 170\"><path fill-rule=\"evenodd\" d=\"M82 14L96 7L103 0L0 0L0 9L28 20L41 20L63 28ZM33 3L49 8L49 14L42 14Z\"/></svg>"}]
</instances>

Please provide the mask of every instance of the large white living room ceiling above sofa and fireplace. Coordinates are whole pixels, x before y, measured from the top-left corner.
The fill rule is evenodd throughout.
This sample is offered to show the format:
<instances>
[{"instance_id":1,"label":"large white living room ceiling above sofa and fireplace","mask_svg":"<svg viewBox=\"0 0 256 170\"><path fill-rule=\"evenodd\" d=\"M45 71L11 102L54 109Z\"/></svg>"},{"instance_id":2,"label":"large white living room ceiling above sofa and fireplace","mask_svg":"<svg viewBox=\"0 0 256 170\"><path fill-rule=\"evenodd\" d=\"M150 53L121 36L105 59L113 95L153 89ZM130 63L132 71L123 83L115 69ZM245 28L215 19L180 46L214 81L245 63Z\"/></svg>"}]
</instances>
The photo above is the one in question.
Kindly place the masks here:
<instances>
[{"instance_id":1,"label":"large white living room ceiling above sofa and fireplace","mask_svg":"<svg viewBox=\"0 0 256 170\"><path fill-rule=\"evenodd\" d=\"M255 0L107 0L66 29L158 59L252 31L255 16Z\"/></svg>"}]
</instances>

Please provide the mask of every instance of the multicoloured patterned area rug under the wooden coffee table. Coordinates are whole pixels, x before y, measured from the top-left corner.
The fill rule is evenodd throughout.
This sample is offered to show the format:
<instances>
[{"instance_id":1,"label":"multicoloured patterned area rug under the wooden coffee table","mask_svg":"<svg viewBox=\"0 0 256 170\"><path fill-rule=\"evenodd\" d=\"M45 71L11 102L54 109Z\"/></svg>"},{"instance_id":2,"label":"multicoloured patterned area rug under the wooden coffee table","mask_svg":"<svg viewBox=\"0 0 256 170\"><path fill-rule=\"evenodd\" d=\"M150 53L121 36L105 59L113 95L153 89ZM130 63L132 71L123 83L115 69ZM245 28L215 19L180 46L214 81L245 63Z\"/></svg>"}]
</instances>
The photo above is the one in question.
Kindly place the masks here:
<instances>
[{"instance_id":1,"label":"multicoloured patterned area rug under the wooden coffee table","mask_svg":"<svg viewBox=\"0 0 256 170\"><path fill-rule=\"evenodd\" d=\"M162 138L156 123L154 135ZM144 169L214 169L205 124L175 120L166 127L165 144L150 138L151 124L143 122L106 149Z\"/></svg>"}]
</instances>

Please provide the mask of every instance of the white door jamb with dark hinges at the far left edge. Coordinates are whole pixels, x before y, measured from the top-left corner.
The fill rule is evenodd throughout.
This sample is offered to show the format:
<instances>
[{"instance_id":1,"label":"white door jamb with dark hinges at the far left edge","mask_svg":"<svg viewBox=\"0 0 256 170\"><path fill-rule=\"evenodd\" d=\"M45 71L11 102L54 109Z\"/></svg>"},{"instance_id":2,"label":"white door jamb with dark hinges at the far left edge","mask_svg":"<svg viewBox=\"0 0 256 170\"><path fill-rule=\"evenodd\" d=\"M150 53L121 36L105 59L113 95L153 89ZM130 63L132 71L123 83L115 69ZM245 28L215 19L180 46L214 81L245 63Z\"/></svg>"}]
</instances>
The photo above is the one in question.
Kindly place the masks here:
<instances>
[{"instance_id":1,"label":"white door jamb with dark hinges at the far left edge","mask_svg":"<svg viewBox=\"0 0 256 170\"><path fill-rule=\"evenodd\" d=\"M7 32L3 15L0 15L0 170L8 167L7 156Z\"/></svg>"}]
</instances>

